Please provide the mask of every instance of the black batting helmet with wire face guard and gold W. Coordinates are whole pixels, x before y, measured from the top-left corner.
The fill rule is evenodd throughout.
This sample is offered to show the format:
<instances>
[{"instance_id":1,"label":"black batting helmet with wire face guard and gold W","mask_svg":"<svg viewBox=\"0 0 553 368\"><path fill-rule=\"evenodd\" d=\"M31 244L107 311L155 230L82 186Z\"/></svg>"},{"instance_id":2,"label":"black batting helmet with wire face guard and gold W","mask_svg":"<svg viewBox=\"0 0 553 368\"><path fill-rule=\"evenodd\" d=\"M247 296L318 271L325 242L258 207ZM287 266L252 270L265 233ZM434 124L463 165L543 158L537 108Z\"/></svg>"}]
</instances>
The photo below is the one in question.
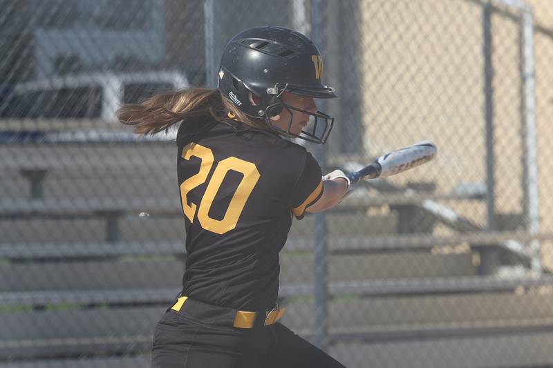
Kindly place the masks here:
<instances>
[{"instance_id":1,"label":"black batting helmet with wire face guard and gold W","mask_svg":"<svg viewBox=\"0 0 553 368\"><path fill-rule=\"evenodd\" d=\"M245 115L265 118L271 124L270 117L286 108L290 111L290 124L284 133L310 142L326 142L333 117L285 105L281 99L284 92L315 98L337 97L333 88L322 84L321 53L306 36L282 27L243 30L227 44L218 74L218 90ZM254 104L249 93L256 97ZM312 124L300 135L290 132L291 110L313 117Z\"/></svg>"}]
</instances>

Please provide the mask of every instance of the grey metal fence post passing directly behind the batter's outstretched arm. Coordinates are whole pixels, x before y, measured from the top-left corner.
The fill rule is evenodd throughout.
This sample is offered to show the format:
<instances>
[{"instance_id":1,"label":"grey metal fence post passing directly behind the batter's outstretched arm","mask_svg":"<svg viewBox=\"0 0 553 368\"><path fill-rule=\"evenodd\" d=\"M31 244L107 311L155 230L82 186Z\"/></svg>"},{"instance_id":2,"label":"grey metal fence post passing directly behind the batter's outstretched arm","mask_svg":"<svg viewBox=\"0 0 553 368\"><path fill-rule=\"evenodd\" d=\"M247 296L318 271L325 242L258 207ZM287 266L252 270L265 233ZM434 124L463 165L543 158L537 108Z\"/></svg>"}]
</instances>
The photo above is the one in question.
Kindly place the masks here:
<instances>
[{"instance_id":1,"label":"grey metal fence post passing directly behind the batter's outstretched arm","mask_svg":"<svg viewBox=\"0 0 553 368\"><path fill-rule=\"evenodd\" d=\"M321 0L312 0L311 2L311 39L323 51ZM319 144L315 146L315 158L325 169L326 157L323 147ZM315 214L315 333L313 343L320 349L326 349L328 346L328 274L326 266L327 244L326 233L326 214L319 212Z\"/></svg>"}]
</instances>

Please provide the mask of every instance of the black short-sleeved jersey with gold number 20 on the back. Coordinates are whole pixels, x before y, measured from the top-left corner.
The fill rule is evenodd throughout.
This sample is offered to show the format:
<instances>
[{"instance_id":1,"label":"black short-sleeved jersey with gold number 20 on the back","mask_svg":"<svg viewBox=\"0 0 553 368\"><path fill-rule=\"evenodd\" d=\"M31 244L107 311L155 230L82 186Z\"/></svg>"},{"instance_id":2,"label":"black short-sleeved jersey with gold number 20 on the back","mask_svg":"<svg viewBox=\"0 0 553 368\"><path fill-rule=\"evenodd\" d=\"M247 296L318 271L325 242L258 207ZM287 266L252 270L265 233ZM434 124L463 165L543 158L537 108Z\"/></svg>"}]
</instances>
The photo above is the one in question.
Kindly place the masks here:
<instances>
[{"instance_id":1,"label":"black short-sleeved jersey with gold number 20 on the back","mask_svg":"<svg viewBox=\"0 0 553 368\"><path fill-rule=\"evenodd\" d=\"M270 132L217 122L196 134L182 127L182 295L242 310L271 308L279 291L279 251L292 215L301 219L321 196L321 168L305 148Z\"/></svg>"}]
</instances>

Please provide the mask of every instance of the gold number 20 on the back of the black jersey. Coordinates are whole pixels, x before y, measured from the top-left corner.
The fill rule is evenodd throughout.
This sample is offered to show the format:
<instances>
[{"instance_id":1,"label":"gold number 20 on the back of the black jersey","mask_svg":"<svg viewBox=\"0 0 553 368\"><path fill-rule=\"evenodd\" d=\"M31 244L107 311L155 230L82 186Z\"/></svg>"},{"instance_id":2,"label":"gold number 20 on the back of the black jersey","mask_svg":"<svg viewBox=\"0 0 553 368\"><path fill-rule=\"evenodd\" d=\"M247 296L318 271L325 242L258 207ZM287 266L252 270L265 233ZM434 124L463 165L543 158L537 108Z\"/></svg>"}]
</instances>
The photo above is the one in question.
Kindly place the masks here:
<instances>
[{"instance_id":1,"label":"gold number 20 on the back of the black jersey","mask_svg":"<svg viewBox=\"0 0 553 368\"><path fill-rule=\"evenodd\" d=\"M196 188L196 186L205 183L207 175L209 175L209 171L212 169L214 156L212 150L196 143L187 144L187 146L182 149L181 155L183 159L188 160L190 157L194 156L201 160L200 171L180 184L182 209L184 210L186 217L188 217L188 220L190 220L190 222L194 222L196 204L191 203L188 205L186 196L189 191ZM243 178L238 184L238 188L236 188L236 191L232 196L232 200L230 200L223 220L216 220L209 217L209 209L211 209L215 195L230 170L241 173ZM257 184L259 180L259 176L259 171L257 171L255 164L252 164L252 162L247 162L236 157L228 157L219 162L215 167L211 180L209 180L209 183L207 184L207 188L205 189L202 200L200 200L200 206L198 208L198 221L203 229L213 231L218 234L224 234L227 231L234 229L238 223L238 218L244 209L247 198L250 197L250 194L252 194L252 191L254 190L255 184Z\"/></svg>"}]
</instances>

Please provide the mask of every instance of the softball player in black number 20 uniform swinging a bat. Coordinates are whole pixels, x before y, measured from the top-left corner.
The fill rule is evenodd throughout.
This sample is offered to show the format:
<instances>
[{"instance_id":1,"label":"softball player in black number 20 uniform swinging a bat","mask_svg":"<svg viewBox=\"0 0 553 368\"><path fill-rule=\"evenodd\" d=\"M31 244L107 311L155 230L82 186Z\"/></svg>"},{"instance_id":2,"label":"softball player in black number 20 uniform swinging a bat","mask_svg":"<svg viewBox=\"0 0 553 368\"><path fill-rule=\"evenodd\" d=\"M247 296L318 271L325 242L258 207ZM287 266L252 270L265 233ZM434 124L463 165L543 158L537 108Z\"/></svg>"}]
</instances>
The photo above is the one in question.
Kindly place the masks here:
<instances>
[{"instance_id":1,"label":"softball player in black number 20 uniform swinging a bat","mask_svg":"<svg viewBox=\"0 0 553 368\"><path fill-rule=\"evenodd\" d=\"M181 122L178 182L185 217L182 291L153 336L153 367L344 367L277 322L279 251L292 217L328 209L348 191L289 137L323 144L334 118L313 98L322 61L304 35L279 27L229 41L218 88L158 95L118 112L137 133Z\"/></svg>"}]
</instances>

